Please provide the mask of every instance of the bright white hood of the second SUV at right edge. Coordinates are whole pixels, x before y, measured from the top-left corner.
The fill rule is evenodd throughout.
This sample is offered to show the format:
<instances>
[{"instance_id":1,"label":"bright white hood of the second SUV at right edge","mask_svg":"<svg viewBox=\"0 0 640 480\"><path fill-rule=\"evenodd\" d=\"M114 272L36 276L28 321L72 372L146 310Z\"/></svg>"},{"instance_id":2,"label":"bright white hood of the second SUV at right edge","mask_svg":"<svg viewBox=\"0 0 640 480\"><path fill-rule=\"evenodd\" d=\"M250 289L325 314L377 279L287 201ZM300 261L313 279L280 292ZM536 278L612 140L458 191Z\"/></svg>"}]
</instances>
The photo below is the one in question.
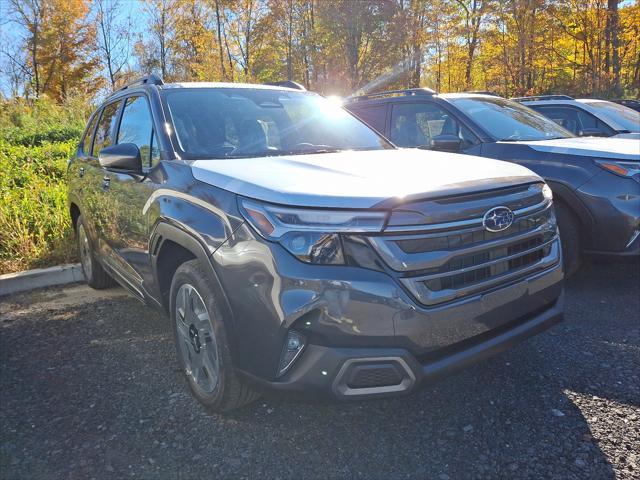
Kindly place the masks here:
<instances>
[{"instance_id":1,"label":"bright white hood of the second SUV at right edge","mask_svg":"<svg viewBox=\"0 0 640 480\"><path fill-rule=\"evenodd\" d=\"M561 153L564 155L640 160L640 140L629 138L577 137L498 143L522 144L539 152Z\"/></svg>"}]
</instances>

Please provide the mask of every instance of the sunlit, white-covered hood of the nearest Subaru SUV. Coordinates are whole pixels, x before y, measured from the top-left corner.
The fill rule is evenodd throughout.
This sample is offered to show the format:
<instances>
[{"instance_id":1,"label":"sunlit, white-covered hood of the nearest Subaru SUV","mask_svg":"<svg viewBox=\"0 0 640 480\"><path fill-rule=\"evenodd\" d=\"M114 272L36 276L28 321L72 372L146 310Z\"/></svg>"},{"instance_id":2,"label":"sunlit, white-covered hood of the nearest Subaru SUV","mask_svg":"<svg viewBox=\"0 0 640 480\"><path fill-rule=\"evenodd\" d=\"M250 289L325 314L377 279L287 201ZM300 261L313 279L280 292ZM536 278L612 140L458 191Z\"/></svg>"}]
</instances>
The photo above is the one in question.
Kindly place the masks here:
<instances>
[{"instance_id":1,"label":"sunlit, white-covered hood of the nearest Subaru SUV","mask_svg":"<svg viewBox=\"0 0 640 480\"><path fill-rule=\"evenodd\" d=\"M417 149L190 162L202 182L284 205L371 208L384 201L541 181L514 163Z\"/></svg>"}]
</instances>

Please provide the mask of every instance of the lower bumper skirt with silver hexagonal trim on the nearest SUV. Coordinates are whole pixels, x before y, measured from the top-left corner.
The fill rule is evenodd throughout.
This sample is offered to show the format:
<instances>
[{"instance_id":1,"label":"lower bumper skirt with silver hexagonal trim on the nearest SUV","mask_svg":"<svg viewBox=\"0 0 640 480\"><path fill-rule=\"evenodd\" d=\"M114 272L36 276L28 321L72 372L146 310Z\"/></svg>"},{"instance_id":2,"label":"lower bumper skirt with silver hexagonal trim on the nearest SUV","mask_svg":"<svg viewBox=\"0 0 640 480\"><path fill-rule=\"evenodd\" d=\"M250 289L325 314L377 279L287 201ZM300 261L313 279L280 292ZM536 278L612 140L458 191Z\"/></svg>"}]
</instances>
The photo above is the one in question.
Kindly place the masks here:
<instances>
[{"instance_id":1,"label":"lower bumper skirt with silver hexagonal trim on the nearest SUV","mask_svg":"<svg viewBox=\"0 0 640 480\"><path fill-rule=\"evenodd\" d=\"M309 345L285 380L268 382L249 377L268 390L334 399L408 394L555 325L563 318L563 306L564 295L561 295L541 311L513 320L431 359L416 357L406 349Z\"/></svg>"}]
</instances>

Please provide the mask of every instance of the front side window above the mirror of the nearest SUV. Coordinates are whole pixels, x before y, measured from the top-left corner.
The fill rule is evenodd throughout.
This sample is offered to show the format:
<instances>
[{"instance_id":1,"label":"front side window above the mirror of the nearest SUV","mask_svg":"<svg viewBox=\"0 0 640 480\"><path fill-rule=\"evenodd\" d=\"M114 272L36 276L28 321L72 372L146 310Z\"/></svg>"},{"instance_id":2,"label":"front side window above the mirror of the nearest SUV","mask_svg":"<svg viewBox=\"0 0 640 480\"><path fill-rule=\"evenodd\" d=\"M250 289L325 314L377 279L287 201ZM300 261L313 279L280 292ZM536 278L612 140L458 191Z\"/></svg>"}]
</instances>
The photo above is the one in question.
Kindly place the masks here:
<instances>
[{"instance_id":1,"label":"front side window above the mirror of the nearest SUV","mask_svg":"<svg viewBox=\"0 0 640 480\"><path fill-rule=\"evenodd\" d=\"M118 129L117 143L137 145L140 149L142 164L146 167L152 165L153 122L146 98L127 98Z\"/></svg>"}]
</instances>

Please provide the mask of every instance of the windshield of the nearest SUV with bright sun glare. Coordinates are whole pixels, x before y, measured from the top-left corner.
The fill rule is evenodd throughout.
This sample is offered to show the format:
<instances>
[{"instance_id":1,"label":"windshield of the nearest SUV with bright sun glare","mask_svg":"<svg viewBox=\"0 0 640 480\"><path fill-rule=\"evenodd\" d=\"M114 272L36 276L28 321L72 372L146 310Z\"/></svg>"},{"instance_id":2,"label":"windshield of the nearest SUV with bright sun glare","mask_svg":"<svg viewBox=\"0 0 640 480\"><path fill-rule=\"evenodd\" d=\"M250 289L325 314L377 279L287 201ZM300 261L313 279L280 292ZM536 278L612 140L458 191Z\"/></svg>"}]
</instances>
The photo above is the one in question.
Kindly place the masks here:
<instances>
[{"instance_id":1,"label":"windshield of the nearest SUV with bright sun glare","mask_svg":"<svg viewBox=\"0 0 640 480\"><path fill-rule=\"evenodd\" d=\"M276 89L166 90L187 159L302 155L393 146L317 94Z\"/></svg>"}]
</instances>

